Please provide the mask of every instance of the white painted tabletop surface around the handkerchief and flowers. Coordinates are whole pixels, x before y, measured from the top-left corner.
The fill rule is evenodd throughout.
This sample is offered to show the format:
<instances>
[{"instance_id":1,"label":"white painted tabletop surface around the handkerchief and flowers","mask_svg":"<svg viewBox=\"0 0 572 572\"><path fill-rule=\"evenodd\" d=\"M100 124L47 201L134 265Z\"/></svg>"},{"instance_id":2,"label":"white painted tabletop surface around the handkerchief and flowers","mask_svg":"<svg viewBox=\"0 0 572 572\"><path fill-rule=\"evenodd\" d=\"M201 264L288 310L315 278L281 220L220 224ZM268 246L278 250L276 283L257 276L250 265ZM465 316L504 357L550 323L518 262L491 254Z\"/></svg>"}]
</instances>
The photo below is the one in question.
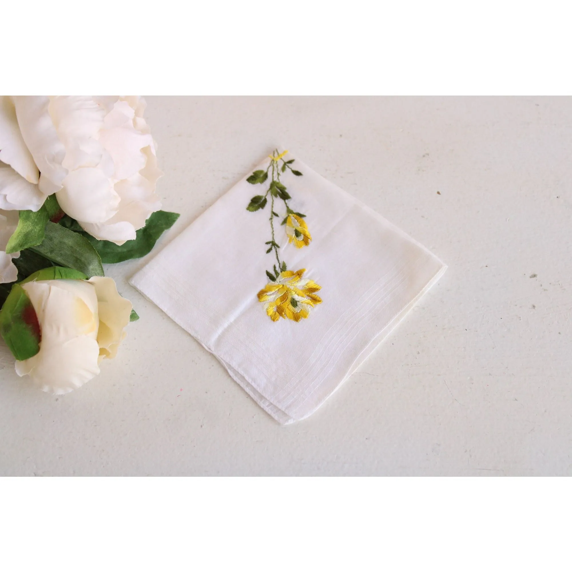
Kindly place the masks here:
<instances>
[{"instance_id":1,"label":"white painted tabletop surface around the handkerchief and flowers","mask_svg":"<svg viewBox=\"0 0 572 572\"><path fill-rule=\"evenodd\" d=\"M98 378L43 394L0 347L0 474L572 474L570 98L148 103L158 189L181 213L154 252L283 145L449 269L316 414L280 427L127 284L145 259L109 266L141 320Z\"/></svg>"}]
</instances>

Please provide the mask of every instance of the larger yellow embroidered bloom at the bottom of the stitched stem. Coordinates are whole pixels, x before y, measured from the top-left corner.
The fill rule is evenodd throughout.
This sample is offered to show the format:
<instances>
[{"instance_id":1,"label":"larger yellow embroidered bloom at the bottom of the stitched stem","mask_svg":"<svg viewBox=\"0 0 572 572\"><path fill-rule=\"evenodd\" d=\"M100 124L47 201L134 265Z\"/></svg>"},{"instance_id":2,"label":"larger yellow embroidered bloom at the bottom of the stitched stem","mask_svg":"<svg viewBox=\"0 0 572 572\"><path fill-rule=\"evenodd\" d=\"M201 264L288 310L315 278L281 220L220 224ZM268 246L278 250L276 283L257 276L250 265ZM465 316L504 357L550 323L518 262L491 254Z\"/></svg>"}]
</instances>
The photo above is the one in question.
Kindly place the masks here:
<instances>
[{"instance_id":1,"label":"larger yellow embroidered bloom at the bottom of the stitched stem","mask_svg":"<svg viewBox=\"0 0 572 572\"><path fill-rule=\"evenodd\" d=\"M316 296L321 286L313 280L303 280L305 271L301 268L296 272L280 272L275 282L269 282L258 293L258 300L265 303L264 309L272 321L280 318L300 321L308 317L316 304L321 304L321 298Z\"/></svg>"}]
</instances>

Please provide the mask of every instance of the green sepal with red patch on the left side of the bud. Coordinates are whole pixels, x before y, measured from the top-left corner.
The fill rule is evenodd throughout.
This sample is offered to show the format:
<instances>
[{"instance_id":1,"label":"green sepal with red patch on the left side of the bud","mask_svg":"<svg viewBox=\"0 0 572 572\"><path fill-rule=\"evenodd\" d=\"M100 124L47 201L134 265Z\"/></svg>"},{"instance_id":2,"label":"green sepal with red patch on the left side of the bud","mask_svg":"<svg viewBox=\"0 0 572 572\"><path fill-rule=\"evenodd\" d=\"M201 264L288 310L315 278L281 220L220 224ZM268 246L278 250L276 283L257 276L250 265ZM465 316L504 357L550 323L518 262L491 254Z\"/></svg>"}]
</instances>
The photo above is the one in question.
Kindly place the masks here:
<instances>
[{"instance_id":1,"label":"green sepal with red patch on the left side of the bud","mask_svg":"<svg viewBox=\"0 0 572 572\"><path fill-rule=\"evenodd\" d=\"M14 358L29 359L39 352L38 316L25 290L14 284L0 310L0 335Z\"/></svg>"}]
</instances>

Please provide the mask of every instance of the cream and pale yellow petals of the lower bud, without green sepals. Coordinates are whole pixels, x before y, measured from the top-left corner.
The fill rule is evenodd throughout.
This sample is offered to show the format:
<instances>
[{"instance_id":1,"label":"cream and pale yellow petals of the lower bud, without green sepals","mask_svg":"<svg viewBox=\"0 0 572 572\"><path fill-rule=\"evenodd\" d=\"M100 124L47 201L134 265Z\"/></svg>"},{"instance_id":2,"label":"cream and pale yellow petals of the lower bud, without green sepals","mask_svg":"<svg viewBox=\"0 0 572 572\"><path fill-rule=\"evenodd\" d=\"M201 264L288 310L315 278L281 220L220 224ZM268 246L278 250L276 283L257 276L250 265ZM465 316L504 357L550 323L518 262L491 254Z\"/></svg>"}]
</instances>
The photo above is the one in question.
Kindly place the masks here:
<instances>
[{"instance_id":1,"label":"cream and pale yellow petals of the lower bud, without green sepals","mask_svg":"<svg viewBox=\"0 0 572 572\"><path fill-rule=\"evenodd\" d=\"M38 318L39 352L17 361L43 391L65 394L100 372L126 336L132 305L112 278L36 280L22 284Z\"/></svg>"}]
</instances>

